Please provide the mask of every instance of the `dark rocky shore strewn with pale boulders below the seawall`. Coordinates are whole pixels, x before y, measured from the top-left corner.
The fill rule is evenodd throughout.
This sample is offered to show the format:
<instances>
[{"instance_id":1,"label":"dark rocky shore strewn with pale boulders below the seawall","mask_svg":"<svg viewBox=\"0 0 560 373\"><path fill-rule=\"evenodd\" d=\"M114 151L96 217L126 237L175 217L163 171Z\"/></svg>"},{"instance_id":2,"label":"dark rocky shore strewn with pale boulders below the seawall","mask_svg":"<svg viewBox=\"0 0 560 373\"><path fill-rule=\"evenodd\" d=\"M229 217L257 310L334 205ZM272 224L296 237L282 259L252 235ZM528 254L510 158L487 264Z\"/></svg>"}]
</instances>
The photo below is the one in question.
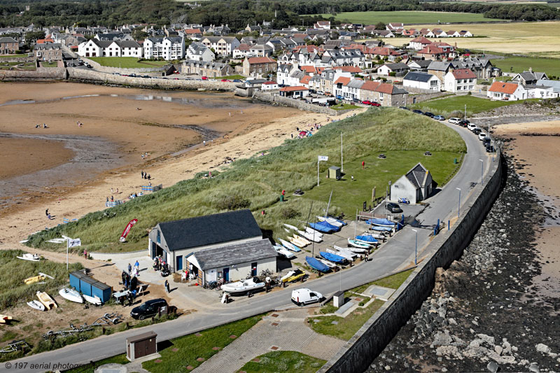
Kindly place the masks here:
<instances>
[{"instance_id":1,"label":"dark rocky shore strewn with pale boulders below the seawall","mask_svg":"<svg viewBox=\"0 0 560 373\"><path fill-rule=\"evenodd\" d=\"M368 373L560 371L560 297L533 281L535 237L554 212L519 177L522 164L506 155L505 166L503 190L463 256L437 269L432 294Z\"/></svg>"}]
</instances>

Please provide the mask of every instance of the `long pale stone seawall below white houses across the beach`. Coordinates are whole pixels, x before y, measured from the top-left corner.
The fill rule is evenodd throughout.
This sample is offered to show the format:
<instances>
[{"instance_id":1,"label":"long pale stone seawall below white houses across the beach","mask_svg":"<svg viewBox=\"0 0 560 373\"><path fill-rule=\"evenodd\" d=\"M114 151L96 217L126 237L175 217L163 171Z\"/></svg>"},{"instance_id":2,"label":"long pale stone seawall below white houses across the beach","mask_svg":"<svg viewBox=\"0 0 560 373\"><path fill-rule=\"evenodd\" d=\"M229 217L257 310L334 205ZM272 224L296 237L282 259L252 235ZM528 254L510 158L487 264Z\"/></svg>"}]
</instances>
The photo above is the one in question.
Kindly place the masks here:
<instances>
[{"instance_id":1,"label":"long pale stone seawall below white houses across the beach","mask_svg":"<svg viewBox=\"0 0 560 373\"><path fill-rule=\"evenodd\" d=\"M235 83L216 80L175 80L175 79L148 79L132 78L130 76L113 75L99 71L76 69L69 67L68 78L86 83L102 83L115 85L128 85L132 87L155 88L160 90L209 90L232 91Z\"/></svg>"}]
</instances>

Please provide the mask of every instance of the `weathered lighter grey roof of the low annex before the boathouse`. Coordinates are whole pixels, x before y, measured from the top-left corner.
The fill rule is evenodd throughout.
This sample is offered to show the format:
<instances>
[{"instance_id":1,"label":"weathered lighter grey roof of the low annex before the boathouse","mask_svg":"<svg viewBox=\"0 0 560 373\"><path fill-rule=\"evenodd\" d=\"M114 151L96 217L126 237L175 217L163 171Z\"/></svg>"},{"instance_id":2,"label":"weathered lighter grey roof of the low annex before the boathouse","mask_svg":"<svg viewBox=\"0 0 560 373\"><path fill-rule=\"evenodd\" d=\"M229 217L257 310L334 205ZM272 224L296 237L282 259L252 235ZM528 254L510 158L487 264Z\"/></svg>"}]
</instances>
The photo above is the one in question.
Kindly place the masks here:
<instances>
[{"instance_id":1,"label":"weathered lighter grey roof of the low annex before the boathouse","mask_svg":"<svg viewBox=\"0 0 560 373\"><path fill-rule=\"evenodd\" d=\"M268 239L233 244L218 248L207 248L193 254L200 269L229 267L245 262L256 262L267 258L276 258L276 251Z\"/></svg>"}]
</instances>

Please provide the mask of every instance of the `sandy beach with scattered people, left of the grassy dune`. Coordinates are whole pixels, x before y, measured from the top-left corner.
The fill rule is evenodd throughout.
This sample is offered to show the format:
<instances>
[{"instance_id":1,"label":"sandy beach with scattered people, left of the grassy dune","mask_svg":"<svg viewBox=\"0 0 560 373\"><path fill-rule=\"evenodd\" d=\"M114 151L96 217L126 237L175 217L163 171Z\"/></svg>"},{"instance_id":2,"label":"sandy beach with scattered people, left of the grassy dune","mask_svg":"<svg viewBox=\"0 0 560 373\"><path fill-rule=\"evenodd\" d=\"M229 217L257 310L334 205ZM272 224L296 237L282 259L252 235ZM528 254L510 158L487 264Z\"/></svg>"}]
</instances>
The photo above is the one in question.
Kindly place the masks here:
<instances>
[{"instance_id":1,"label":"sandy beach with scattered people, left of the grassy dune","mask_svg":"<svg viewBox=\"0 0 560 373\"><path fill-rule=\"evenodd\" d=\"M68 85L73 83L54 83L52 84L59 90L59 94L69 95ZM59 86L59 85L62 85ZM24 85L23 87L27 87ZM97 87L89 85L77 85L77 91L72 90L71 95L78 94L94 94L88 92L113 92L113 90L123 91L122 94L133 94L133 91L124 88ZM72 87L73 89L73 87ZM153 92L153 91L152 91ZM29 98L29 94L19 93L14 97ZM185 96L185 92L157 92L166 97ZM120 94L120 93L119 93ZM196 100L206 101L215 97L194 93L195 105ZM218 98L225 94L217 94ZM7 97L11 95L0 94L0 102L6 102ZM56 94L50 94L50 98L57 97ZM59 97L59 96L58 96ZM127 156L134 157L136 162L129 162L124 167L112 169L95 180L88 180L71 188L50 188L48 196L33 199L25 204L19 204L17 209L5 209L3 218L0 221L0 248L25 248L18 242L26 239L27 236L43 230L45 227L52 227L62 223L63 218L80 218L86 213L104 209L104 203L107 197L111 196L111 188L113 188L113 196L115 199L125 199L128 195L141 190L141 185L146 182L141 179L140 172L146 171L151 174L153 185L162 184L164 188L174 185L175 183L194 176L197 172L207 171L217 167L227 167L226 158L240 159L250 157L263 150L279 146L285 139L290 138L290 134L295 134L296 127L305 128L307 125L321 123L323 125L330 122L332 118L328 115L316 113L306 113L291 108L279 108L267 106L264 104L251 104L246 100L239 100L233 97L233 104L223 107L212 107L214 103L200 104L193 113L190 105L183 105L172 102L155 101L136 101L127 98L117 97L119 101L112 101L116 97L92 97L91 101L87 101L87 115L82 114L83 105L76 104L73 110L68 108L68 113L57 113L55 108L50 108L48 103L38 104L43 113L49 113L52 118L61 118L60 124L53 125L52 133L64 135L90 134L91 136L103 135L109 141L118 141L120 147L125 149ZM4 101L2 101L4 100ZM59 100L50 104L62 103L69 106L74 100ZM223 101L222 101L223 102ZM36 105L36 104L35 104ZM12 121L4 121L0 124L0 132L15 132L15 118L18 110L15 108L20 105L3 106L1 111L6 110L6 118L13 118ZM24 104L25 106L25 104ZM137 107L141 106L141 110ZM190 110L190 113L188 111ZM242 111L242 113L241 113ZM231 117L229 113L232 113ZM97 113L97 115L93 115ZM141 113L141 115L139 114ZM188 115L187 115L188 114ZM36 112L24 113L25 122L27 124L20 127L21 133L33 133L34 118L38 119ZM89 116L88 116L89 115ZM116 116L115 120L106 120L104 118ZM145 122L157 122L160 125L138 125L139 115L141 120ZM347 113L346 115L351 115ZM336 119L344 118L346 115L340 115ZM190 134L188 130L183 128L171 127L169 125L190 125L196 122L195 118L207 118L204 126L214 130L221 136L210 139L204 146L200 143L200 134L197 136ZM131 118L134 118L132 120ZM78 127L76 121L84 123L83 127ZM20 122L24 122L20 120ZM43 122L43 120L41 120ZM51 122L51 121L50 121ZM94 124L93 124L94 123ZM42 130L42 129L41 129ZM85 130L85 131L84 131ZM125 140L120 136L125 136ZM197 146L193 146L187 152L176 152L176 150L184 149L194 142ZM198 139L198 140L197 140ZM149 145L149 146L148 146ZM170 154L176 152L176 155ZM164 151L165 150L165 151ZM150 153L147 160L141 160L140 155L144 152ZM116 190L119 193L116 193ZM55 216L53 220L45 218L45 209Z\"/></svg>"}]
</instances>

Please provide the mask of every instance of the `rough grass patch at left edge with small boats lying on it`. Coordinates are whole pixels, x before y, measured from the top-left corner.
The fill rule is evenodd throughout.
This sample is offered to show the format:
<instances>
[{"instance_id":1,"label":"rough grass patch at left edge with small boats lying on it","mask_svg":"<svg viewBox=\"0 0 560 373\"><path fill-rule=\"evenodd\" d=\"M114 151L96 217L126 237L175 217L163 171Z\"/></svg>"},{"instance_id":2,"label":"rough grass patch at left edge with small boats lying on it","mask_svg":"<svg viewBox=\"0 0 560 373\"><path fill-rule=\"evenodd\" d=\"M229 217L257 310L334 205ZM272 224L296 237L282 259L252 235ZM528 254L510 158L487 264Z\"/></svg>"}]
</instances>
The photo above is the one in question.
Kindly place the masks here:
<instances>
[{"instance_id":1,"label":"rough grass patch at left edge with small boats lying on it","mask_svg":"<svg viewBox=\"0 0 560 373\"><path fill-rule=\"evenodd\" d=\"M57 292L60 286L68 282L69 272L83 268L80 263L73 263L67 272L65 263L57 263L50 260L31 262L16 258L23 253L25 251L0 251L0 273L4 274L0 277L0 309L13 307L19 302L36 300L35 293L39 290L46 291L52 295ZM36 276L39 272L48 274L55 279L45 279L43 284L32 283L31 285L26 285L23 282L24 279Z\"/></svg>"}]
</instances>

